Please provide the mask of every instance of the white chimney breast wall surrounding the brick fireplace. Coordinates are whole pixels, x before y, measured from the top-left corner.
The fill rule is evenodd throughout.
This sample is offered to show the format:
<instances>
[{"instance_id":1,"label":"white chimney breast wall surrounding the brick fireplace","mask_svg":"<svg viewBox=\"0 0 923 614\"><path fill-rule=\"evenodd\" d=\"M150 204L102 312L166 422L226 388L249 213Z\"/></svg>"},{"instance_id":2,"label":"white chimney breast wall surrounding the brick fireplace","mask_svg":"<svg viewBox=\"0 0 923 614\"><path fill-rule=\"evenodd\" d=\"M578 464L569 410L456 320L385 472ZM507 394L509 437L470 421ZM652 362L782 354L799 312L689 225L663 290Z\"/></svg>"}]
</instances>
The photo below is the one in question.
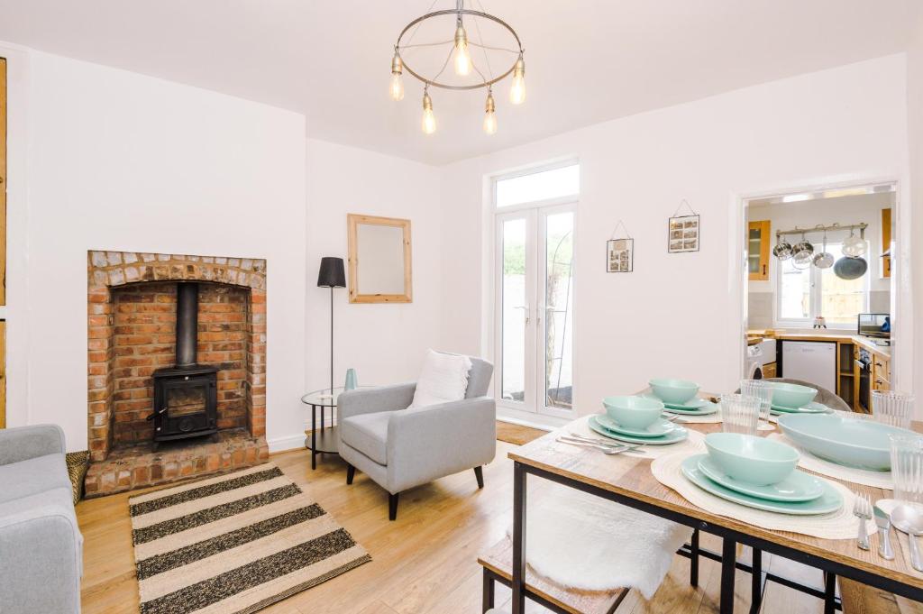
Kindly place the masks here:
<instances>
[{"instance_id":1,"label":"white chimney breast wall surrounding the brick fireplace","mask_svg":"<svg viewBox=\"0 0 923 614\"><path fill-rule=\"evenodd\" d=\"M30 53L29 399L10 425L54 422L87 447L87 250L268 260L267 437L298 432L305 380L305 141L299 114ZM18 70L16 58L11 60ZM23 82L11 82L18 96ZM10 113L19 110L10 103ZM11 182L12 183L12 182ZM21 201L20 201L21 204ZM13 224L19 224L13 227ZM19 247L22 247L21 245ZM16 248L11 245L11 251ZM11 331L27 326L10 315ZM21 354L20 354L21 353ZM10 374L11 379L13 373ZM18 388L20 381L10 381Z\"/></svg>"}]
</instances>

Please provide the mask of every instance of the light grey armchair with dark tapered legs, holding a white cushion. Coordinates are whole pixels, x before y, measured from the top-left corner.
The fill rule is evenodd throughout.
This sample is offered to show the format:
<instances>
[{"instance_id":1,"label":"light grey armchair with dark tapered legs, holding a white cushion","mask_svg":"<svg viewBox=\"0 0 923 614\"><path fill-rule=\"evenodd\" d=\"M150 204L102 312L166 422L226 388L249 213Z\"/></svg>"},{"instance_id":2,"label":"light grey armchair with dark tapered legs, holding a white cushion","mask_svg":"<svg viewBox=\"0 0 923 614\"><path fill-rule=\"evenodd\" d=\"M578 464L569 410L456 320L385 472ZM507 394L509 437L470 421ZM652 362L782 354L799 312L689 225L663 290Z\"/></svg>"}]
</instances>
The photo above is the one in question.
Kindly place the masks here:
<instances>
[{"instance_id":1,"label":"light grey armchair with dark tapered legs, holding a white cushion","mask_svg":"<svg viewBox=\"0 0 923 614\"><path fill-rule=\"evenodd\" d=\"M415 383L343 392L337 400L340 455L389 493L389 518L397 518L403 490L474 469L484 488L482 465L497 451L497 406L485 396L494 366L471 357L462 401L426 407L414 401Z\"/></svg>"}]
</instances>

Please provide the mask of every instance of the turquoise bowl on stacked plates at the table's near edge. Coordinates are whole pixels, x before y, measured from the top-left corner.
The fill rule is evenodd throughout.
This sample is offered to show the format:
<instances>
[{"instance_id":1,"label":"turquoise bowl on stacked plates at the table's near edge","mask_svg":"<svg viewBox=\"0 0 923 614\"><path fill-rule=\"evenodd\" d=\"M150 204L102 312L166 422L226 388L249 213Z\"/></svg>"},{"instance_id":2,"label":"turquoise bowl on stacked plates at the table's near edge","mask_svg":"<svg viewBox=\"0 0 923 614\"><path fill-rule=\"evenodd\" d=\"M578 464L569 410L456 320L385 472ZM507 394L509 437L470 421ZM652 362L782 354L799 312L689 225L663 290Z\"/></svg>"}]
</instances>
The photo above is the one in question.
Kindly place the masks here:
<instances>
[{"instance_id":1,"label":"turquoise bowl on stacked plates at the table's near edge","mask_svg":"<svg viewBox=\"0 0 923 614\"><path fill-rule=\"evenodd\" d=\"M798 464L795 448L753 435L710 433L705 436L705 447L725 474L756 486L781 482Z\"/></svg>"}]
</instances>

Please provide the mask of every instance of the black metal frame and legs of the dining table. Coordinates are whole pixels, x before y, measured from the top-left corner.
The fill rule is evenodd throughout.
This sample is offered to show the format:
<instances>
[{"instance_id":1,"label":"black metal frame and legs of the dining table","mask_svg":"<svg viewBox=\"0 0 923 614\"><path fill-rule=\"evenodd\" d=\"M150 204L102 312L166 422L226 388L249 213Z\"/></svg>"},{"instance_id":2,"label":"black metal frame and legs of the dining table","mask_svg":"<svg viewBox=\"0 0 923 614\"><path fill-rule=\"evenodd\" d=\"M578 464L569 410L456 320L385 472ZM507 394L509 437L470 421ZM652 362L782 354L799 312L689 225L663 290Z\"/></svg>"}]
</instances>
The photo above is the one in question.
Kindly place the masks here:
<instances>
[{"instance_id":1,"label":"black metal frame and legs of the dining table","mask_svg":"<svg viewBox=\"0 0 923 614\"><path fill-rule=\"evenodd\" d=\"M693 541L690 546L680 548L679 554L688 556L692 561L692 570L690 570L689 581L691 584L698 584L698 557L703 556L707 559L719 560L721 562L721 597L720 608L721 614L733 614L734 612L734 574L735 570L743 570L752 574L750 583L751 602L750 612L759 611L764 584L767 581L773 581L778 584L785 584L808 595L818 596L824 599L824 614L833 614L835 609L841 608L839 599L834 595L835 579L837 575L856 580L862 584L869 584L875 588L894 593L895 595L905 596L914 601L923 602L923 588L918 588L910 584L905 584L893 578L882 576L866 570L858 569L852 565L839 560L827 559L819 555L810 554L797 548L791 548L782 544L777 544L761 537L750 536L735 529L731 529L720 524L713 524L696 518L692 515L675 510L668 510L654 505L647 501L633 499L627 495L619 494L588 484L579 479L561 476L559 474L535 467L531 464L522 463L521 461L513 462L513 568L511 588L513 593L513 614L524 614L525 598L529 591L525 586L525 527L526 527L526 477L529 475L543 477L562 486L576 488L588 494L600 497L605 500L615 501L630 508L647 512L654 516L673 521L678 524L695 529ZM699 548L699 532L719 536L723 539L721 554L711 552L704 548ZM737 544L743 544L753 548L753 564L737 561ZM809 567L821 570L824 573L824 587L818 589L806 584L800 584L796 581L789 580L783 576L773 573L762 572L761 553L769 552L789 560L795 560ZM492 591L491 591L492 592ZM487 591L485 589L485 596Z\"/></svg>"}]
</instances>

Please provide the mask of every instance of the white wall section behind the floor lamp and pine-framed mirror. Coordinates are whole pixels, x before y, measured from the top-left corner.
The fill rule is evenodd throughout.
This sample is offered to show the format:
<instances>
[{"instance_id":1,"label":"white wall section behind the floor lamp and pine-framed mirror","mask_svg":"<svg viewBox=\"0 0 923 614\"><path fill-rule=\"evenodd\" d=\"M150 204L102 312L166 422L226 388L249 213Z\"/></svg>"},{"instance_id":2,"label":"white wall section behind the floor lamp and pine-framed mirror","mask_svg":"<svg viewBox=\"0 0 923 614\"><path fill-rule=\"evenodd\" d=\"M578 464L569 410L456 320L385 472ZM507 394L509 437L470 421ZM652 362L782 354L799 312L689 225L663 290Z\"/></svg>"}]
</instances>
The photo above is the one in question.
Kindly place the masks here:
<instances>
[{"instance_id":1,"label":"white wall section behind the floor lamp and pine-framed mirror","mask_svg":"<svg viewBox=\"0 0 923 614\"><path fill-rule=\"evenodd\" d=\"M323 256L346 260L346 214L411 221L414 302L351 304L334 290L334 385L346 369L360 385L416 379L427 348L439 344L443 253L438 169L366 150L307 141L307 386L330 386L330 290L318 288ZM469 252L459 252L467 259ZM348 271L347 271L348 275Z\"/></svg>"}]
</instances>

